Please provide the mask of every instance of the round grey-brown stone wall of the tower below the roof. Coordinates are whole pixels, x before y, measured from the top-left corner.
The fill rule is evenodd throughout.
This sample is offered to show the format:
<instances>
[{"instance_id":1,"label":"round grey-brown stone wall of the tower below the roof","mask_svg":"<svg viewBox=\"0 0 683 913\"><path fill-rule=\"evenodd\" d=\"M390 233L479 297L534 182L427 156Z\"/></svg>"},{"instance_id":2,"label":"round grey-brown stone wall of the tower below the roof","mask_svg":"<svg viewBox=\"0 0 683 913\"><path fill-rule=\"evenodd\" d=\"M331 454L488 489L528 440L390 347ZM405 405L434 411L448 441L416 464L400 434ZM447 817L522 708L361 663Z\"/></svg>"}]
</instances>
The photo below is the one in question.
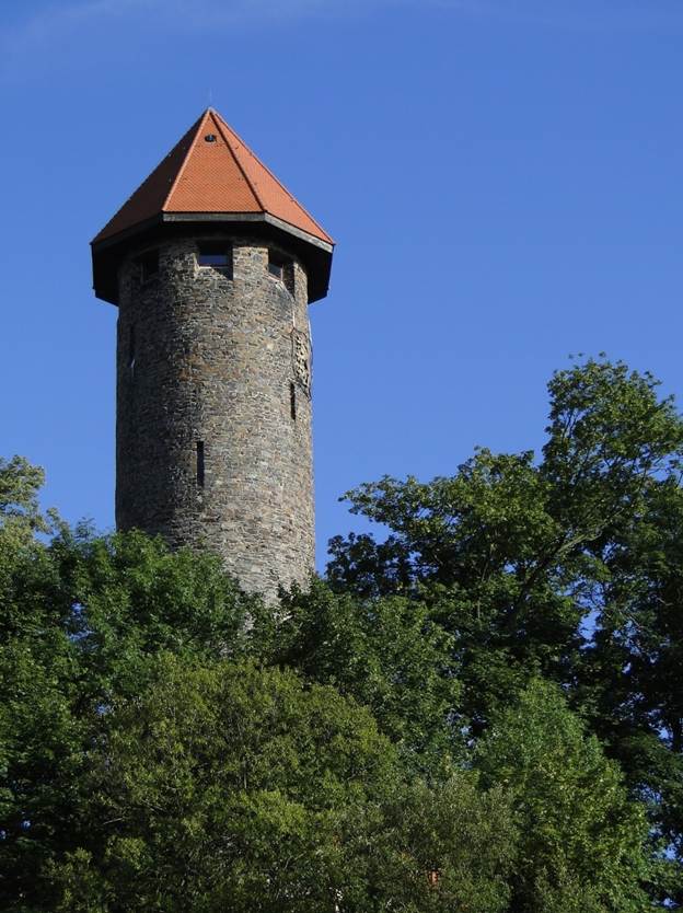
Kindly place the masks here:
<instances>
[{"instance_id":1,"label":"round grey-brown stone wall of the tower below the roof","mask_svg":"<svg viewBox=\"0 0 683 913\"><path fill-rule=\"evenodd\" d=\"M229 278L197 265L198 240L158 245L147 281L143 251L121 264L116 522L207 546L273 598L314 563L306 275L291 258L281 281L263 240L211 234Z\"/></svg>"}]
</instances>

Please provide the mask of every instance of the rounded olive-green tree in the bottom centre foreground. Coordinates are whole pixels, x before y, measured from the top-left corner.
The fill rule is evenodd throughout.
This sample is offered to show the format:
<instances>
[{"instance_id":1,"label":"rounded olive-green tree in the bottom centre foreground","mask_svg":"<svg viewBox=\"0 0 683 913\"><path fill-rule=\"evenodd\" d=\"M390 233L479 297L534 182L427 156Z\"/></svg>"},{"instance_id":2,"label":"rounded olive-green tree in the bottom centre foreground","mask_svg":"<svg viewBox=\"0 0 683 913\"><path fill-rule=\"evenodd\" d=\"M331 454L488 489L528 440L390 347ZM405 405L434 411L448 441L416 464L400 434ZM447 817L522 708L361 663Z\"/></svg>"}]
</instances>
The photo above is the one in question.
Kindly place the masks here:
<instances>
[{"instance_id":1,"label":"rounded olive-green tree in the bottom centre foreground","mask_svg":"<svg viewBox=\"0 0 683 913\"><path fill-rule=\"evenodd\" d=\"M161 656L88 781L83 845L53 868L65 913L507 905L505 795L465 775L406 786L371 715L291 670Z\"/></svg>"}]
</instances>

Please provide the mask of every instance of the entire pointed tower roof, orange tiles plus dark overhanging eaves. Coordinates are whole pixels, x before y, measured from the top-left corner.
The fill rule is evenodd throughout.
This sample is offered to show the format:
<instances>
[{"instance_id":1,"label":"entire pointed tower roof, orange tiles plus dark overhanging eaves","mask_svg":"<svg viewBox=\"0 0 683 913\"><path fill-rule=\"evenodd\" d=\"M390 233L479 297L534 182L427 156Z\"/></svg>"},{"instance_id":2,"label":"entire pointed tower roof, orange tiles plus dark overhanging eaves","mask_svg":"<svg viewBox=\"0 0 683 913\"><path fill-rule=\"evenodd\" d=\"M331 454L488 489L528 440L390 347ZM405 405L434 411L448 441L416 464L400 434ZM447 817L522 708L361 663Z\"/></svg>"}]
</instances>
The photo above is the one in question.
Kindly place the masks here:
<instances>
[{"instance_id":1,"label":"entire pointed tower roof, orange tiles plus dark overhanging eaves","mask_svg":"<svg viewBox=\"0 0 683 913\"><path fill-rule=\"evenodd\" d=\"M334 241L213 108L207 108L93 239L93 288L118 303L131 250L190 231L282 244L304 264L309 301L327 294Z\"/></svg>"}]
</instances>

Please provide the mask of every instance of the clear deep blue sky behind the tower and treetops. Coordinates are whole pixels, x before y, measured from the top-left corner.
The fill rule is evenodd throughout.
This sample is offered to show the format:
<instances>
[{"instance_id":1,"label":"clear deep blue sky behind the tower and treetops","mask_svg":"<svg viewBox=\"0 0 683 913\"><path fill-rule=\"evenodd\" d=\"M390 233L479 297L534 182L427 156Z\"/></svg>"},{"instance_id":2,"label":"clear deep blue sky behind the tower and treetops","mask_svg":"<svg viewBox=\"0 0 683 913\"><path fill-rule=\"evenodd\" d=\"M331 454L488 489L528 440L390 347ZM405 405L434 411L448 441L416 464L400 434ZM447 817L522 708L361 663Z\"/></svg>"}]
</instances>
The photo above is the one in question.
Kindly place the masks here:
<instances>
[{"instance_id":1,"label":"clear deep blue sky behind the tower and treetops","mask_svg":"<svg viewBox=\"0 0 683 913\"><path fill-rule=\"evenodd\" d=\"M543 440L605 350L683 389L681 0L3 0L0 453L113 525L88 242L209 101L335 236L319 560L384 473Z\"/></svg>"}]
</instances>

